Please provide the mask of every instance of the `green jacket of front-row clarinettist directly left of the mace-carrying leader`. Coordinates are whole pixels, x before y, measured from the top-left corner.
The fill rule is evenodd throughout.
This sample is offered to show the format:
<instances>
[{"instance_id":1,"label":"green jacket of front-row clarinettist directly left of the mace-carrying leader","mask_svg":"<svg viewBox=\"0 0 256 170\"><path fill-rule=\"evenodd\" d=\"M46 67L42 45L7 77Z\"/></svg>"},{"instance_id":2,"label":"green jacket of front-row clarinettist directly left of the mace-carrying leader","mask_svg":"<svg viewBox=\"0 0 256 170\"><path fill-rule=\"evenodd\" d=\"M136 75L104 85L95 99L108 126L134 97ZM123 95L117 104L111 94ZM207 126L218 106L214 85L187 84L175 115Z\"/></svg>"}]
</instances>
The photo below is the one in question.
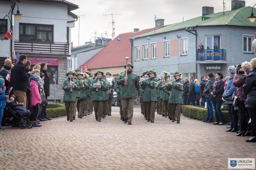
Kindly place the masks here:
<instances>
[{"instance_id":1,"label":"green jacket of front-row clarinettist directly left of the mace-carrying leader","mask_svg":"<svg viewBox=\"0 0 256 170\"><path fill-rule=\"evenodd\" d=\"M104 81L102 78L100 78L99 81L101 83L101 88L98 88L98 92L96 92L97 88L93 87L93 84L98 82L98 78L96 77L96 79L94 79L92 82L92 85L91 85L91 90L93 91L92 101L94 100L105 101L104 92L108 90L108 85L106 81Z\"/></svg>"}]
</instances>

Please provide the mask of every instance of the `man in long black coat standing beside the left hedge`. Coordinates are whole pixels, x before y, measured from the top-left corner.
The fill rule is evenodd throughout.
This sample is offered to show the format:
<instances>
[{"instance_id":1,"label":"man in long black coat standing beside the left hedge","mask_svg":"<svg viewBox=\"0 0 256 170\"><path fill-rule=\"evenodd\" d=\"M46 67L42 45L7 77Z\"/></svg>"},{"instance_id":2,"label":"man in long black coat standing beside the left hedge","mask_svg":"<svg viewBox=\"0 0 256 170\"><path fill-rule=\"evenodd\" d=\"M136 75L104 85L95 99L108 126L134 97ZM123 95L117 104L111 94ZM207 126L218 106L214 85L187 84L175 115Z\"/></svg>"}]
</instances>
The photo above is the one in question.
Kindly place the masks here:
<instances>
[{"instance_id":1,"label":"man in long black coat standing beside the left hedge","mask_svg":"<svg viewBox=\"0 0 256 170\"><path fill-rule=\"evenodd\" d=\"M41 66L41 69L40 69L40 72L44 73L44 94L45 94L45 98L47 100L47 97L50 96L50 79L49 79L49 76L46 72L47 70L47 64L45 62L42 62L40 64ZM42 120L51 120L49 117L47 117L46 115L46 105L44 105L42 111L41 111L41 119Z\"/></svg>"}]
</instances>

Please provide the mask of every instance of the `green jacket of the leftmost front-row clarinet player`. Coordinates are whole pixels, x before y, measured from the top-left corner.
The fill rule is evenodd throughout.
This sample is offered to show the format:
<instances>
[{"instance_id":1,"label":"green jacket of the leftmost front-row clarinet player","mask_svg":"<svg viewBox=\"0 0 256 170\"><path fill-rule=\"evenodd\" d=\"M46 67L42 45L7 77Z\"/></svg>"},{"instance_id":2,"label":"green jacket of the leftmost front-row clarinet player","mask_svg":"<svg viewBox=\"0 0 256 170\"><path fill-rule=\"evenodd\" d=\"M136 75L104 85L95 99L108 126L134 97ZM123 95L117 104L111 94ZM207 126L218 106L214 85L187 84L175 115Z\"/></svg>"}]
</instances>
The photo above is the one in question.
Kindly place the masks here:
<instances>
[{"instance_id":1,"label":"green jacket of the leftmost front-row clarinet player","mask_svg":"<svg viewBox=\"0 0 256 170\"><path fill-rule=\"evenodd\" d=\"M77 80L71 79L74 82L75 88L72 88L72 93L70 93L70 88L68 88L68 84L70 84L70 78L64 80L62 83L62 89L65 91L63 96L63 102L75 102L76 101L76 91L78 90Z\"/></svg>"}]
</instances>

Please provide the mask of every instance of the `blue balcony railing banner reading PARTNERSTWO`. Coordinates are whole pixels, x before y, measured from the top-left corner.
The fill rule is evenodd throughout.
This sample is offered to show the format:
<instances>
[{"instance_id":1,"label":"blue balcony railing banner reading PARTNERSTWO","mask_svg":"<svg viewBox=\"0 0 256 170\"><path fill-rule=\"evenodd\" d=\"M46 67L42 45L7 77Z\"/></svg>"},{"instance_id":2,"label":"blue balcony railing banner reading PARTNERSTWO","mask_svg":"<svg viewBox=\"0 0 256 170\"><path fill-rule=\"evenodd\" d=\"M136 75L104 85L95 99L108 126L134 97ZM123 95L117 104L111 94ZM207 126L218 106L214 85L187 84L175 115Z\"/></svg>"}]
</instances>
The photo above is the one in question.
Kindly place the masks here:
<instances>
[{"instance_id":1,"label":"blue balcony railing banner reading PARTNERSTWO","mask_svg":"<svg viewBox=\"0 0 256 170\"><path fill-rule=\"evenodd\" d=\"M224 49L197 50L197 60L225 60L225 53Z\"/></svg>"}]
</instances>

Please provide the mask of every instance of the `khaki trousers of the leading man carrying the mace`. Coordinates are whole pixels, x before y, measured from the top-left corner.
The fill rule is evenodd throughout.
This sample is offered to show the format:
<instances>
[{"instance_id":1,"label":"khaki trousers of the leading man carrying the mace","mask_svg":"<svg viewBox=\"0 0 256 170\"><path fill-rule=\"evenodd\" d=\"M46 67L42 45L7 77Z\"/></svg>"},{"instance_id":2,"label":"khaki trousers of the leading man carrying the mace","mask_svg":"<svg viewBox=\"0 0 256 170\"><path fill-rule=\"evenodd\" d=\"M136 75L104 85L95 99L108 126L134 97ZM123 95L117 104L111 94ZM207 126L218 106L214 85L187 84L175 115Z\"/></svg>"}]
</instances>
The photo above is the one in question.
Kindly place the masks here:
<instances>
[{"instance_id":1,"label":"khaki trousers of the leading man carrying the mace","mask_svg":"<svg viewBox=\"0 0 256 170\"><path fill-rule=\"evenodd\" d=\"M133 119L133 106L134 106L133 98L125 98L122 99L122 107L123 107L123 118L128 118L127 122L132 122Z\"/></svg>"}]
</instances>

